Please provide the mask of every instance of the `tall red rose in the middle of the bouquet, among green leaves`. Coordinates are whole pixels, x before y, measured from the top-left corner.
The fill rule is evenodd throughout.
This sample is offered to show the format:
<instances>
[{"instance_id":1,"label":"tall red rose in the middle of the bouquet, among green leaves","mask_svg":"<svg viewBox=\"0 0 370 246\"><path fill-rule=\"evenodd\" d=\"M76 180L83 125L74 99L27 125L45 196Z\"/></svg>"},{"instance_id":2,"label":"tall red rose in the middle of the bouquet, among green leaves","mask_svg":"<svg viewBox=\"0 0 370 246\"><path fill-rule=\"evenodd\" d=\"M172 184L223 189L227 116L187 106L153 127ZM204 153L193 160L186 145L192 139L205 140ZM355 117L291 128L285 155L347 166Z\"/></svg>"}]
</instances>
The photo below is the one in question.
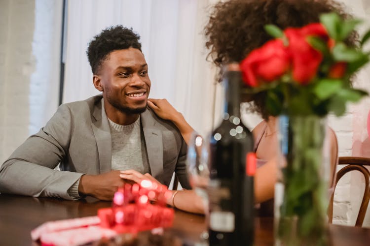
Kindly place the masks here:
<instances>
[{"instance_id":1,"label":"tall red rose in the middle of the bouquet, among green leaves","mask_svg":"<svg viewBox=\"0 0 370 246\"><path fill-rule=\"evenodd\" d=\"M307 42L307 37L317 36L328 41L327 31L321 24L313 23L303 28L288 28L284 33L293 60L293 79L299 84L308 84L315 77L323 55Z\"/></svg>"}]
</instances>

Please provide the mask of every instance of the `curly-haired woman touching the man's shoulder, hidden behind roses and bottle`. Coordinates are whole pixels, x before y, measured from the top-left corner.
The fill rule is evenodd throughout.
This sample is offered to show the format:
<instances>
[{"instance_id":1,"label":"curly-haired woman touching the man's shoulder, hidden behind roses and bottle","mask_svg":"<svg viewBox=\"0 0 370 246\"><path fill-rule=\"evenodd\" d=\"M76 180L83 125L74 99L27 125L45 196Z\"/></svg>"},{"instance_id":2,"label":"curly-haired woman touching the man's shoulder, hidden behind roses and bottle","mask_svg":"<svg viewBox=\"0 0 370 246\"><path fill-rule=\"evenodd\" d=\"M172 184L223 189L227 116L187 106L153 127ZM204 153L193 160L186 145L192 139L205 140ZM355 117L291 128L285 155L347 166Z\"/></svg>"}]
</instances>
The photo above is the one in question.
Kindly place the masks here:
<instances>
[{"instance_id":1,"label":"curly-haired woman touching the man's shoulder, hidden behind roses and bottle","mask_svg":"<svg viewBox=\"0 0 370 246\"><path fill-rule=\"evenodd\" d=\"M263 31L266 24L275 24L281 29L302 27L319 22L322 13L336 12L344 18L349 17L343 6L333 0L229 0L217 3L205 27L206 47L209 57L220 69L230 62L241 62L253 49L263 45L272 37ZM347 42L353 42L347 40ZM255 201L267 201L274 196L274 184L277 177L276 162L276 119L265 110L265 92L254 95L243 94L243 101L253 101L252 110L258 112L263 121L252 131L256 146L255 151L260 167L255 176ZM192 127L165 99L149 99L148 106L161 118L172 121L189 141ZM337 141L333 130L329 131L332 157L332 183L334 181L337 159ZM144 177L143 177L144 176ZM123 178L139 182L150 175L136 174L132 170L124 171ZM189 202L194 201L194 202ZM201 199L191 190L173 191L168 204L179 209L202 213Z\"/></svg>"}]
</instances>

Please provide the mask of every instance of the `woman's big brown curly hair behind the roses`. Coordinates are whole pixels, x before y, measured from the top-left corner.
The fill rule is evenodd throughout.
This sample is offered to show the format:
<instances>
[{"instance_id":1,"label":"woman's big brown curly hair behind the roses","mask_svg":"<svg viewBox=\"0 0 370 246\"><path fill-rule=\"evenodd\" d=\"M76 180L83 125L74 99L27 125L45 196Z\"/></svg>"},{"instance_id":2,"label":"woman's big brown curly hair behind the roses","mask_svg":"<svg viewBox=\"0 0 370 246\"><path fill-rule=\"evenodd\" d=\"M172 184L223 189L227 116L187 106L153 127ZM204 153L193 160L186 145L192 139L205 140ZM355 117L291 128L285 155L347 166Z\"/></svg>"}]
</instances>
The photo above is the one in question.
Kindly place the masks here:
<instances>
[{"instance_id":1,"label":"woman's big brown curly hair behind the roses","mask_svg":"<svg viewBox=\"0 0 370 246\"><path fill-rule=\"evenodd\" d=\"M272 37L264 31L264 25L275 24L284 30L319 22L322 13L336 12L343 18L350 17L344 6L333 0L229 0L218 2L212 9L205 27L206 47L219 68L229 62L241 62L253 49L262 46ZM355 34L347 42L354 43ZM219 69L222 78L222 69ZM250 110L263 119L265 92L249 95L253 101Z\"/></svg>"}]
</instances>

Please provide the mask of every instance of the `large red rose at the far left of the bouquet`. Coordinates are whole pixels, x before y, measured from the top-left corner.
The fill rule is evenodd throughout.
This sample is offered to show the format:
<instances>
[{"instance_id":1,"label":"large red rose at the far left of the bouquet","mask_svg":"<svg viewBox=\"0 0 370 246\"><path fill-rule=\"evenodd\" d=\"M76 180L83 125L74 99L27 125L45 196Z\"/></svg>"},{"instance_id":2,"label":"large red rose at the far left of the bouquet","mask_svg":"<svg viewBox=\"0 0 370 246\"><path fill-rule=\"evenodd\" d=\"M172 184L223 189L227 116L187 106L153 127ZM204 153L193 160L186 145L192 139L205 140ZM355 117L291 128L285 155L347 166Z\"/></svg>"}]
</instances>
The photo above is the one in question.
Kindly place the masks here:
<instances>
[{"instance_id":1,"label":"large red rose at the far left of the bouquet","mask_svg":"<svg viewBox=\"0 0 370 246\"><path fill-rule=\"evenodd\" d=\"M290 60L281 39L268 41L240 63L243 80L251 87L274 81L288 71Z\"/></svg>"}]
</instances>

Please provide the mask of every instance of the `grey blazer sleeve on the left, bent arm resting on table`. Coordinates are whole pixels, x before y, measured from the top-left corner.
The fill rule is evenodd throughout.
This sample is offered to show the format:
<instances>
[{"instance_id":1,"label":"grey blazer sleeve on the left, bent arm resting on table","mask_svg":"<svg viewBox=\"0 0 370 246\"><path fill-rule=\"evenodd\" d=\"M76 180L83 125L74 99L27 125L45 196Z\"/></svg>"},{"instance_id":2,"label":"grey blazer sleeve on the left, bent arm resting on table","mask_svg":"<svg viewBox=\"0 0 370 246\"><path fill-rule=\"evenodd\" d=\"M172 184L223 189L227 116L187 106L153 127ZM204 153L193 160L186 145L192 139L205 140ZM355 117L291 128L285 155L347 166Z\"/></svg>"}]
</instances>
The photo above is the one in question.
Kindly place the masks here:
<instances>
[{"instance_id":1,"label":"grey blazer sleeve on the left, bent arm resting on table","mask_svg":"<svg viewBox=\"0 0 370 246\"><path fill-rule=\"evenodd\" d=\"M54 170L68 152L73 126L67 105L61 105L40 131L30 136L0 167L0 192L73 200L68 189L81 173Z\"/></svg>"}]
</instances>

